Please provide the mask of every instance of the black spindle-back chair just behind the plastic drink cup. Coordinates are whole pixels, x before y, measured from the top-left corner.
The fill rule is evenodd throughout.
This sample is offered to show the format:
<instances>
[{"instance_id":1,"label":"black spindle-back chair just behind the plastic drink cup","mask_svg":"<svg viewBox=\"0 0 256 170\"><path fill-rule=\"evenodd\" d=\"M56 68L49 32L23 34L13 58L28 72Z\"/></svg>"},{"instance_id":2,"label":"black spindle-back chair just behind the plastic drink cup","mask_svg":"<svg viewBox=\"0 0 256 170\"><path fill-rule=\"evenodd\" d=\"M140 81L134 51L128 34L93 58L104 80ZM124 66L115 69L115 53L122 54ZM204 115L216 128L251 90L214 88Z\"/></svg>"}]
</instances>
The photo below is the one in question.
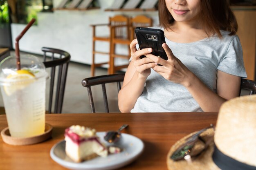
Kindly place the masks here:
<instances>
[{"instance_id":1,"label":"black spindle-back chair just behind the plastic drink cup","mask_svg":"<svg viewBox=\"0 0 256 170\"><path fill-rule=\"evenodd\" d=\"M67 79L67 68L70 62L70 54L66 51L52 49L49 47L43 47L42 51L44 52L43 63L45 64L45 67L51 68L48 112L52 113L55 73L58 73L56 76L57 84L55 87L55 103L53 113L61 113ZM48 54L50 54L50 57L47 57L49 56ZM58 66L58 72L56 71L56 66Z\"/></svg>"}]
</instances>

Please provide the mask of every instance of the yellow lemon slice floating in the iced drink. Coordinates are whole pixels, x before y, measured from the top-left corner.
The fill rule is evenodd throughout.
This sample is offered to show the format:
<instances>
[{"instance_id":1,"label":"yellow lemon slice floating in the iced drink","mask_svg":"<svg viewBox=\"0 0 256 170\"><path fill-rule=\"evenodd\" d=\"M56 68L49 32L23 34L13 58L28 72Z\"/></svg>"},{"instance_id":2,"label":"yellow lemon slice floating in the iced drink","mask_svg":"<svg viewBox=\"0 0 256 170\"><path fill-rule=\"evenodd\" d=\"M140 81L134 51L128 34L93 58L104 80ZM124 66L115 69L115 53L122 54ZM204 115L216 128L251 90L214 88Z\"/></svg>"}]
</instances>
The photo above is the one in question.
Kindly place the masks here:
<instances>
[{"instance_id":1,"label":"yellow lemon slice floating in the iced drink","mask_svg":"<svg viewBox=\"0 0 256 170\"><path fill-rule=\"evenodd\" d=\"M6 77L8 79L7 84L4 86L4 92L10 96L18 90L22 90L29 84L35 81L35 75L27 70L18 70L16 74L10 74Z\"/></svg>"}]
</instances>

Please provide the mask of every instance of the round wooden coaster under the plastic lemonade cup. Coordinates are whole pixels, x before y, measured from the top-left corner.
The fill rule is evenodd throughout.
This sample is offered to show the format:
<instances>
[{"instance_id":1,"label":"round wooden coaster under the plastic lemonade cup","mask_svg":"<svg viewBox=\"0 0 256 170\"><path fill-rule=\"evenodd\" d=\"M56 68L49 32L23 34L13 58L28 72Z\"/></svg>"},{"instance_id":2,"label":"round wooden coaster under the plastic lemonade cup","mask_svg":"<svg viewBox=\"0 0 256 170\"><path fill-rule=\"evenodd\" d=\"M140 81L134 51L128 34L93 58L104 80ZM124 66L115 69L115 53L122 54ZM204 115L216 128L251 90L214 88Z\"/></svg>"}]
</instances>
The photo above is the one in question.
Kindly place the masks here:
<instances>
[{"instance_id":1,"label":"round wooden coaster under the plastic lemonade cup","mask_svg":"<svg viewBox=\"0 0 256 170\"><path fill-rule=\"evenodd\" d=\"M5 143L10 145L31 145L37 144L39 142L45 141L52 136L52 126L50 124L45 124L45 132L41 135L33 137L11 137L9 128L4 128L1 131L2 139Z\"/></svg>"}]
</instances>

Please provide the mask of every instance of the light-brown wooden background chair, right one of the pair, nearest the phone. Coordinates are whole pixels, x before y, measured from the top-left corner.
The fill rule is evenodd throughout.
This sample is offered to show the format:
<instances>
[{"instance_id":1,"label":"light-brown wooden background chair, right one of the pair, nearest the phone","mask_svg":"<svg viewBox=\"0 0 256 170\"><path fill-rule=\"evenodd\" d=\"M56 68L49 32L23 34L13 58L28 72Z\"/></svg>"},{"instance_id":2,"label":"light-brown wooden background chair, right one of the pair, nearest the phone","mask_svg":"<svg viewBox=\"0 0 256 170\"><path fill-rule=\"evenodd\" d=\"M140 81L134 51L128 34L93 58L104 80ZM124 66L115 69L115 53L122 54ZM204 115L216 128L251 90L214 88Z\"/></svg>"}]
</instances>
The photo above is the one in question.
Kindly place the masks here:
<instances>
[{"instance_id":1,"label":"light-brown wooden background chair, right one of the pair, nearest the phone","mask_svg":"<svg viewBox=\"0 0 256 170\"><path fill-rule=\"evenodd\" d=\"M112 26L111 27L111 45L110 45L110 61L109 61L109 69L108 69L108 74L114 74L116 73L116 71L121 70L122 68L126 68L128 67L128 64L125 65L119 65L116 66L115 65L115 58L124 58L126 60L129 60L130 58L130 43L132 42L133 39L136 38L135 33L134 33L134 29L137 26L141 26L141 27L150 27L152 26L152 19L148 18L144 15L138 15L134 18L130 19L130 23L129 23L129 32L128 32L128 36L127 38L120 38L117 36L116 33L116 29L120 28L122 26ZM115 52L115 47L117 44L123 44L123 45L127 45L128 47L128 55L119 55Z\"/></svg>"}]
</instances>

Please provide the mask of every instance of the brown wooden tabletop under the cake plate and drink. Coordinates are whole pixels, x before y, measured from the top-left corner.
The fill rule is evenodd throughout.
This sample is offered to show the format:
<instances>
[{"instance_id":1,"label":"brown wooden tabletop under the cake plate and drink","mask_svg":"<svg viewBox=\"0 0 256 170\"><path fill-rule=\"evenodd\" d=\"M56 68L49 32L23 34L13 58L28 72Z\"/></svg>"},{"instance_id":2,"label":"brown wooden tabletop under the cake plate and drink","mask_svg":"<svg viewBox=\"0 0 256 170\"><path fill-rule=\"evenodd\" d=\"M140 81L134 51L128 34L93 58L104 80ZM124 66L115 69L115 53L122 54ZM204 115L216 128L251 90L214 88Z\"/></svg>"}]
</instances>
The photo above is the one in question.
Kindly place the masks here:
<instances>
[{"instance_id":1,"label":"brown wooden tabletop under the cake plate and drink","mask_svg":"<svg viewBox=\"0 0 256 170\"><path fill-rule=\"evenodd\" d=\"M191 132L216 124L218 113L88 113L47 114L46 123L53 129L52 139L29 146L11 146L0 137L1 170L66 170L50 157L50 149L64 139L65 128L83 125L97 131L116 130L139 137L145 144L140 157L122 170L167 170L166 155L171 146ZM0 115L0 130L7 127Z\"/></svg>"}]
</instances>

